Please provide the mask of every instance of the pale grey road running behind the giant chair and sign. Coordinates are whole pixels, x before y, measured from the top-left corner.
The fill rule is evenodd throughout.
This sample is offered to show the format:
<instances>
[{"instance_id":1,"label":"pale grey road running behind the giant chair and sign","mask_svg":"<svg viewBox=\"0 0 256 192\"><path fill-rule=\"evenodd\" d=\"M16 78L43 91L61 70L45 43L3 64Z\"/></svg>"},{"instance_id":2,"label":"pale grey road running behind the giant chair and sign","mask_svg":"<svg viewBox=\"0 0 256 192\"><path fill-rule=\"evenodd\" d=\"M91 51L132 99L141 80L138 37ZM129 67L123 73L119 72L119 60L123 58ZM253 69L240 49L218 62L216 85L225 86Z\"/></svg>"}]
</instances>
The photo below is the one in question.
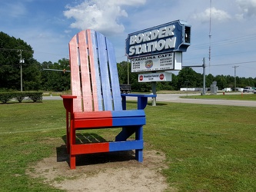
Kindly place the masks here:
<instances>
[{"instance_id":1,"label":"pale grey road running behind the giant chair and sign","mask_svg":"<svg viewBox=\"0 0 256 192\"><path fill-rule=\"evenodd\" d=\"M231 105L231 106L245 106L245 107L255 107L256 101L241 101L241 100L220 100L220 99L190 99L190 98L180 98L181 96L186 96L187 94L158 94L158 101L173 102L173 103L188 103L188 104L220 104L220 105ZM194 94L188 94L194 95ZM128 100L135 100L136 98L127 98ZM148 100L151 98L148 98ZM44 96L43 100L62 100L58 96Z\"/></svg>"}]
</instances>

